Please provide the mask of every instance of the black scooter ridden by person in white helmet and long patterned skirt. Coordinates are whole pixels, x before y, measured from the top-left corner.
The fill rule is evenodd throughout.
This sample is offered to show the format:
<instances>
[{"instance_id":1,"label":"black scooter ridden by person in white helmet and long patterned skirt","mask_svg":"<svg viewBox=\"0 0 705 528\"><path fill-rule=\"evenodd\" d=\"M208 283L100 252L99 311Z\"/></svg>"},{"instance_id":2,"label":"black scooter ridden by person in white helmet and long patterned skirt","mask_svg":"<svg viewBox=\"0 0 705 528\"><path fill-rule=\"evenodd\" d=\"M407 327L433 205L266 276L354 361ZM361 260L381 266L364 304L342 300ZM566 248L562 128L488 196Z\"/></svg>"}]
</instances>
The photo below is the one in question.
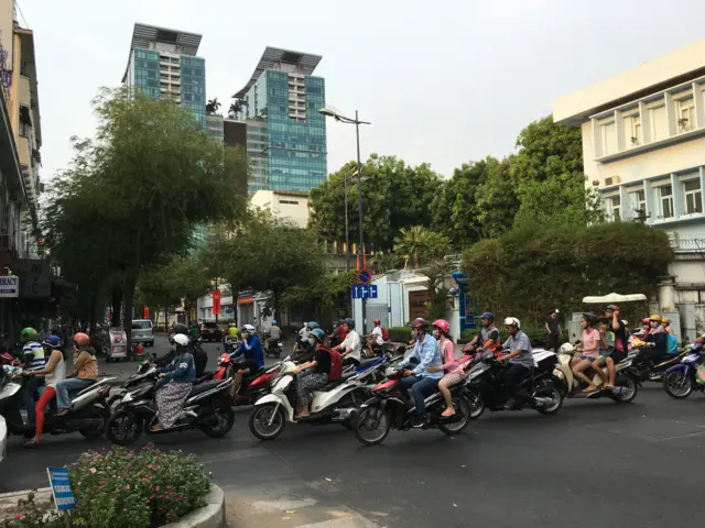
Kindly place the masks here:
<instances>
[{"instance_id":1,"label":"black scooter ridden by person in white helmet and long patterned skirt","mask_svg":"<svg viewBox=\"0 0 705 528\"><path fill-rule=\"evenodd\" d=\"M182 413L169 429L152 430L156 419L156 369L134 391L124 395L108 420L106 436L117 446L130 446L145 435L167 435L187 429L199 429L210 438L226 436L235 425L230 388L232 378L216 380L194 385Z\"/></svg>"}]
</instances>

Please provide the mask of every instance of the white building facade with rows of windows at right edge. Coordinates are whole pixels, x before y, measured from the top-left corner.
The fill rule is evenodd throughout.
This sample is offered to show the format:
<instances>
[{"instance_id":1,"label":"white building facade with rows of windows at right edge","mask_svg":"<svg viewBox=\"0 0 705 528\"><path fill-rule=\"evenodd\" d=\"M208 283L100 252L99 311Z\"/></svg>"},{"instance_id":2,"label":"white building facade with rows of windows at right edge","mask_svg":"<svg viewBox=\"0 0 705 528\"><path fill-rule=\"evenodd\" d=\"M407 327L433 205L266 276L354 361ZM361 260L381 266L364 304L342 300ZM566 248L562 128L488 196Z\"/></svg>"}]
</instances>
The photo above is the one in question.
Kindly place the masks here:
<instances>
[{"instance_id":1,"label":"white building facade with rows of windows at right edge","mask_svg":"<svg viewBox=\"0 0 705 528\"><path fill-rule=\"evenodd\" d=\"M659 308L680 314L683 338L705 331L705 41L564 97L553 117L582 128L586 185L608 217L669 234Z\"/></svg>"}]
</instances>

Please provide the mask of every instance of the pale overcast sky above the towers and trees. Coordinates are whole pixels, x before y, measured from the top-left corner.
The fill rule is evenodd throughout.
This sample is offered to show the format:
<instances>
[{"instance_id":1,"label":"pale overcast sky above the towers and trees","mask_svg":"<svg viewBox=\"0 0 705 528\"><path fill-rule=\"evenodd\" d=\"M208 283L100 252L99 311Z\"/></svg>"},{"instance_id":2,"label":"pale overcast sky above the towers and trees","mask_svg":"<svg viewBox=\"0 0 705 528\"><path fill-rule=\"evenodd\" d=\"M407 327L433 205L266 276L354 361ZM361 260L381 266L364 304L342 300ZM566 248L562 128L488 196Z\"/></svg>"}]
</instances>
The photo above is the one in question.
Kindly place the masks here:
<instances>
[{"instance_id":1,"label":"pale overcast sky above the towers and trees","mask_svg":"<svg viewBox=\"0 0 705 528\"><path fill-rule=\"evenodd\" d=\"M90 99L118 86L134 22L203 34L207 97L227 109L267 45L323 55L327 102L372 125L362 156L459 164L512 151L558 97L705 38L703 0L20 0L34 30L43 178L69 138L91 136ZM24 25L22 16L20 16ZM703 57L705 61L705 57ZM355 156L328 122L328 170Z\"/></svg>"}]
</instances>

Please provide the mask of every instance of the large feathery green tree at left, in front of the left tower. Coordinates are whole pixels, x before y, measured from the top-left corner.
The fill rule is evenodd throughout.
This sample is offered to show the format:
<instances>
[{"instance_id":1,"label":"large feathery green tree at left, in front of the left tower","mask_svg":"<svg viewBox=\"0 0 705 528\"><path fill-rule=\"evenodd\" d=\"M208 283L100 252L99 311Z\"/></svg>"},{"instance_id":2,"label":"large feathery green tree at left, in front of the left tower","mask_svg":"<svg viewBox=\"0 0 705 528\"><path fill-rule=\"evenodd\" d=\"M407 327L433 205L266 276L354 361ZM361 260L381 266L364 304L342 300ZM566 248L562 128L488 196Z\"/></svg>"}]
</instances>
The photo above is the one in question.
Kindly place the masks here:
<instances>
[{"instance_id":1,"label":"large feathery green tree at left, in front of the left tower","mask_svg":"<svg viewBox=\"0 0 705 528\"><path fill-rule=\"evenodd\" d=\"M91 250L107 271L122 275L124 306L132 307L141 270L183 252L195 224L243 213L234 175L247 173L247 158L213 141L171 100L106 89L95 109L96 141L80 143L64 199L53 210L53 243L80 254L80 237L91 231ZM80 211L65 207L73 204ZM76 227L76 218L85 223ZM130 321L128 312L128 340Z\"/></svg>"}]
</instances>

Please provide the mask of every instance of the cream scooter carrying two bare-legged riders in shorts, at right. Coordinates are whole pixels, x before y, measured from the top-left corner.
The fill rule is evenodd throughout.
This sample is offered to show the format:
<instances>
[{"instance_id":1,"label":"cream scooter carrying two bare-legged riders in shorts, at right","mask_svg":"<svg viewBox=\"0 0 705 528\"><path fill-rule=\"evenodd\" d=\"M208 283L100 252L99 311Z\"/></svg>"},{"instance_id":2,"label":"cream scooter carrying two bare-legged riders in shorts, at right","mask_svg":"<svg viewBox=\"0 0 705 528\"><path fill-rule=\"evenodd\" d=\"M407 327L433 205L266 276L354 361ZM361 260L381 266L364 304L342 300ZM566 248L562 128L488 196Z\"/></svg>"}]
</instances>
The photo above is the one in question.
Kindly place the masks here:
<instances>
[{"instance_id":1,"label":"cream scooter carrying two bare-legged riders in shorts, at right","mask_svg":"<svg viewBox=\"0 0 705 528\"><path fill-rule=\"evenodd\" d=\"M594 393L585 394L583 389L587 386L573 375L571 370L571 361L573 360L574 346L571 343L564 343L558 351L560 365L556 367L555 375L564 383L565 396L568 398L588 397L590 399L608 397L618 404L629 404L633 402L639 393L641 380L637 367L633 365L634 352L630 353L619 363L615 364L615 388L611 391L599 388L603 378L590 367L585 371L585 375L589 377L593 374L593 385L598 387ZM607 374L607 367L603 367L603 372Z\"/></svg>"}]
</instances>

